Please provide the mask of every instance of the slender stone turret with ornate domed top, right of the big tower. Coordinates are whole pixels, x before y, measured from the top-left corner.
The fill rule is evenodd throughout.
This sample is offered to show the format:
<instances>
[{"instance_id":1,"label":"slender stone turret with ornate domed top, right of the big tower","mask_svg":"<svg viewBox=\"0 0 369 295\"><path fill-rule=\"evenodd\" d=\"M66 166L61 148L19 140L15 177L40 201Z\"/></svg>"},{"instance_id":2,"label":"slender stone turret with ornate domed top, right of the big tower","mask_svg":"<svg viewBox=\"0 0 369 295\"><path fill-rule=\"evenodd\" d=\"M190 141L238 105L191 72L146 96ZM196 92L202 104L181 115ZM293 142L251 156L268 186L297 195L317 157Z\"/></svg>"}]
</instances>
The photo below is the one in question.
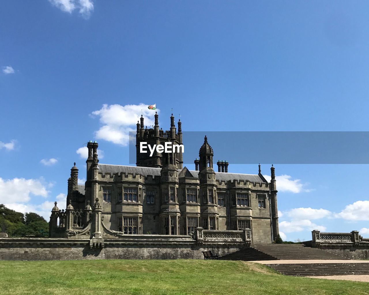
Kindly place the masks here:
<instances>
[{"instance_id":1,"label":"slender stone turret with ornate domed top, right of the big tower","mask_svg":"<svg viewBox=\"0 0 369 295\"><path fill-rule=\"evenodd\" d=\"M213 170L213 149L204 138L199 150L199 179L200 179L200 226L204 229L218 229L219 213L217 210L217 185Z\"/></svg>"}]
</instances>

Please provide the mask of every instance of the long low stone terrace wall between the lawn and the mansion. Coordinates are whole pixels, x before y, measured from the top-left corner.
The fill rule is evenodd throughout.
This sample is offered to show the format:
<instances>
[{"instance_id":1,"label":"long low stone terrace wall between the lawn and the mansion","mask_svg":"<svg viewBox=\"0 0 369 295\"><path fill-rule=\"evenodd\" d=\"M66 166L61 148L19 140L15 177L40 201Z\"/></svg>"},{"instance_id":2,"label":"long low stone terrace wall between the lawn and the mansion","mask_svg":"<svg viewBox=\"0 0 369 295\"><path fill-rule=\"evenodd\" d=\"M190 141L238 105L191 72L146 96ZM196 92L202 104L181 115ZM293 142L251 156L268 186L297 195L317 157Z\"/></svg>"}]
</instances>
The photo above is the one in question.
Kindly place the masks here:
<instances>
[{"instance_id":1,"label":"long low stone terrace wall between the lawn and the mansion","mask_svg":"<svg viewBox=\"0 0 369 295\"><path fill-rule=\"evenodd\" d=\"M89 239L0 239L0 260L82 259L203 259L202 251L220 256L244 249L244 242L148 241L105 239L104 247L89 246Z\"/></svg>"}]
</instances>

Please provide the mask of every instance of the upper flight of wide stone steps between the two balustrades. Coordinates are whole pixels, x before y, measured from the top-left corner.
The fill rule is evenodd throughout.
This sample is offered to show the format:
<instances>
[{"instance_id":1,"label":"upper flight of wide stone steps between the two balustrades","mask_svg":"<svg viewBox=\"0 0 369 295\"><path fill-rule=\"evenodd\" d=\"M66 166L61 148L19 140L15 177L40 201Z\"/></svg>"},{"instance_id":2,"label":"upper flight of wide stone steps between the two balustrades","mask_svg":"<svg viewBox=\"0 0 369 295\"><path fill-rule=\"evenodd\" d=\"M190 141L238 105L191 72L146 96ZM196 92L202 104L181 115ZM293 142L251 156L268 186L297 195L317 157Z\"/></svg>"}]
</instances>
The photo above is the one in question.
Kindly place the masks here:
<instances>
[{"instance_id":1,"label":"upper flight of wide stone steps between the two balustrades","mask_svg":"<svg viewBox=\"0 0 369 295\"><path fill-rule=\"evenodd\" d=\"M221 256L222 260L349 260L343 256L303 244L251 244L249 248Z\"/></svg>"}]
</instances>

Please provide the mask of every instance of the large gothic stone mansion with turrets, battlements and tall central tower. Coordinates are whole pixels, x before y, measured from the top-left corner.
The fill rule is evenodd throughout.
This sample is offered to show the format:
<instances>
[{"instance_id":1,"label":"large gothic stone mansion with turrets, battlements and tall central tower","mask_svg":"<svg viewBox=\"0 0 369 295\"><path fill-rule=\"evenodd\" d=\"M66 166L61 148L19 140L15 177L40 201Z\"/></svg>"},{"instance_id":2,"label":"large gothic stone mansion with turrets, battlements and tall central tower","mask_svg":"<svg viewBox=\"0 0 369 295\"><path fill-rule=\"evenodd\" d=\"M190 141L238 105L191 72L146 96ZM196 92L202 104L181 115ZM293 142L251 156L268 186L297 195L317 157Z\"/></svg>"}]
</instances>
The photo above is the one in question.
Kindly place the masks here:
<instances>
[{"instance_id":1,"label":"large gothic stone mansion with turrets, battlements and tall central tower","mask_svg":"<svg viewBox=\"0 0 369 295\"><path fill-rule=\"evenodd\" d=\"M140 124L141 123L141 124ZM278 234L275 169L271 181L261 174L228 173L228 162L213 170L213 149L204 138L195 170L183 166L182 152L139 153L139 143L182 144L173 114L170 130L137 123L137 166L100 164L96 142L87 143L85 185L78 185L73 166L68 179L66 210L56 202L50 218L50 237L119 239L134 235L193 235L196 228L248 232L252 243L271 243ZM137 236L138 237L138 236Z\"/></svg>"}]
</instances>

